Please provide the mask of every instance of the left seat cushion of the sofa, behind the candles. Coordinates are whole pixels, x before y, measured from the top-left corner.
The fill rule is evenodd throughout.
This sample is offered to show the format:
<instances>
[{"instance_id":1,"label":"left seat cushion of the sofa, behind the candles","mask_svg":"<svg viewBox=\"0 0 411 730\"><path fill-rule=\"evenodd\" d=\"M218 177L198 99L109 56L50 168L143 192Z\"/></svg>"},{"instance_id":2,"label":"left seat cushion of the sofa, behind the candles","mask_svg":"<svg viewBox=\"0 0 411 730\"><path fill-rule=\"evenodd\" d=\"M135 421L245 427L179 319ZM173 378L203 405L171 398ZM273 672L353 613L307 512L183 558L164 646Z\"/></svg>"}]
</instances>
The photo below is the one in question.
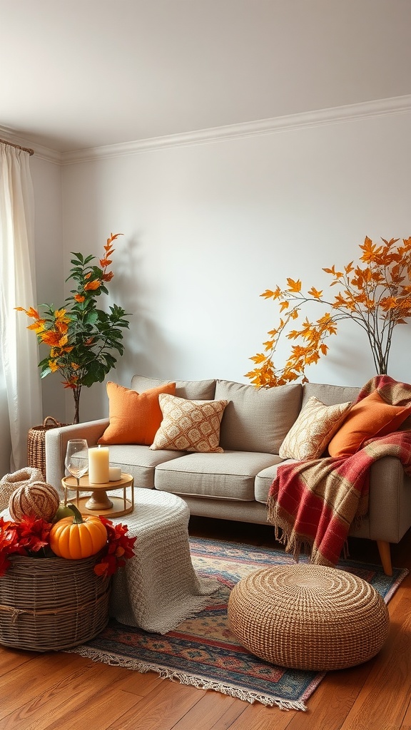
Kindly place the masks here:
<instances>
[{"instance_id":1,"label":"left seat cushion of the sofa, behind the candles","mask_svg":"<svg viewBox=\"0 0 411 730\"><path fill-rule=\"evenodd\" d=\"M183 451L151 451L148 446L111 445L110 466L121 466L125 474L131 474L135 487L154 489L154 469L163 461L184 456Z\"/></svg>"}]
</instances>

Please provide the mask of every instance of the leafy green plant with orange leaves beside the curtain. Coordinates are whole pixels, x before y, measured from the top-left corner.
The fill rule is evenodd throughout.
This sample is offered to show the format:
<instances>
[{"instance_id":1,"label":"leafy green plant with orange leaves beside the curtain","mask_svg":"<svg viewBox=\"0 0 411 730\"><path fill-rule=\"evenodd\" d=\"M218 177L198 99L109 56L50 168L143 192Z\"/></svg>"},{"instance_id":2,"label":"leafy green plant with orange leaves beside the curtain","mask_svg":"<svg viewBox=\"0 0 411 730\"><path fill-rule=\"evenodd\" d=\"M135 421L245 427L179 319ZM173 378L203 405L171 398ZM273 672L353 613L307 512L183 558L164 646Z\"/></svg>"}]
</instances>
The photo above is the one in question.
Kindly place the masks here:
<instances>
[{"instance_id":1,"label":"leafy green plant with orange leaves beside the curtain","mask_svg":"<svg viewBox=\"0 0 411 730\"><path fill-rule=\"evenodd\" d=\"M104 255L95 263L95 256L73 253L72 269L67 281L75 288L65 300L64 307L42 304L44 314L30 307L16 307L33 319L28 329L34 331L40 345L50 348L47 357L39 362L40 377L59 372L64 388L71 388L75 401L73 423L79 422L81 388L102 383L116 364L113 351L124 353L122 330L129 326L122 307L113 304L109 312L97 307L97 297L108 294L107 284L113 279L109 271L114 253L113 242L121 234L111 234L104 247Z\"/></svg>"}]
</instances>

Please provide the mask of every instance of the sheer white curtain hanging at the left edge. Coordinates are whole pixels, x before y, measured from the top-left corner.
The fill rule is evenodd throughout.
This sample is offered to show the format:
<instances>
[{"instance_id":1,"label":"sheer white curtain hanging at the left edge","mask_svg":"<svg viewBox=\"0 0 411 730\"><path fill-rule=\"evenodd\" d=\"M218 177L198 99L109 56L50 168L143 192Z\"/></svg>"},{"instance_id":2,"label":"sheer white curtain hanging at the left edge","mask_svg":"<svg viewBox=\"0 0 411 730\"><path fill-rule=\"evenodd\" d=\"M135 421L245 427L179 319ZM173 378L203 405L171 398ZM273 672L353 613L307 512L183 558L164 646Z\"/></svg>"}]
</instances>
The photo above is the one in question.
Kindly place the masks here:
<instances>
[{"instance_id":1,"label":"sheer white curtain hanging at the left edge","mask_svg":"<svg viewBox=\"0 0 411 730\"><path fill-rule=\"evenodd\" d=\"M10 471L27 465L27 433L42 423L39 350L32 322L15 307L37 307L34 194L29 153L0 143L0 366L10 423Z\"/></svg>"}]
</instances>

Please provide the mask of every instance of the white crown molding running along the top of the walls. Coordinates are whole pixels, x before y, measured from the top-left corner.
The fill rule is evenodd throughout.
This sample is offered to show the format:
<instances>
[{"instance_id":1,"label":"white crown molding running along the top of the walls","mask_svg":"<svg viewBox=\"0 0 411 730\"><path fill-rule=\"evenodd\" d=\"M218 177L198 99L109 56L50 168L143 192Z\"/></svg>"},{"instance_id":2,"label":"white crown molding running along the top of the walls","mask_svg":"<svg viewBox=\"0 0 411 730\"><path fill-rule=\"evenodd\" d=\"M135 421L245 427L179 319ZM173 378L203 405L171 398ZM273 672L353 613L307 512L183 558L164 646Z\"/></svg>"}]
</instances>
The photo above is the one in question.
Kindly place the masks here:
<instances>
[{"instance_id":1,"label":"white crown molding running along the top of the walls","mask_svg":"<svg viewBox=\"0 0 411 730\"><path fill-rule=\"evenodd\" d=\"M10 128L0 126L0 135L8 142L22 147L31 147L34 156L59 165L70 165L79 162L108 159L136 155L153 150L164 150L170 147L187 147L189 145L206 145L212 142L224 142L230 139L257 137L263 134L278 134L304 127L323 126L348 121L392 115L411 111L411 94L393 96L390 99L365 101L361 104L347 104L344 107L331 107L314 112L301 112L282 117L260 119L252 122L240 122L226 126L210 127L181 134L168 134L165 137L137 139L134 142L119 142L117 145L89 147L86 150L58 152L42 147L35 142L18 137Z\"/></svg>"}]
</instances>

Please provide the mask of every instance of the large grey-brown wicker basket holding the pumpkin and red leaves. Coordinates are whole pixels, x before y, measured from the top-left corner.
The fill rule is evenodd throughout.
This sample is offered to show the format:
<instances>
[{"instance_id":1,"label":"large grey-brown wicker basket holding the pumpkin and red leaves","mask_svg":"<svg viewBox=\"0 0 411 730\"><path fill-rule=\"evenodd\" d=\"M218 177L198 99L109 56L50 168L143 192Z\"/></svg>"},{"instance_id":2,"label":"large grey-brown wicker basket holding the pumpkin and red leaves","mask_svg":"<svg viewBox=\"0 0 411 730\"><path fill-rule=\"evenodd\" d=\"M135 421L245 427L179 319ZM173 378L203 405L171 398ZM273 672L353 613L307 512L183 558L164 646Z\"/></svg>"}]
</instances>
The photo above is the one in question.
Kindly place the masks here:
<instances>
[{"instance_id":1,"label":"large grey-brown wicker basket holding the pumpkin and red leaves","mask_svg":"<svg viewBox=\"0 0 411 730\"><path fill-rule=\"evenodd\" d=\"M110 579L82 560L10 556L0 577L0 644L61 650L93 639L108 623Z\"/></svg>"}]
</instances>

